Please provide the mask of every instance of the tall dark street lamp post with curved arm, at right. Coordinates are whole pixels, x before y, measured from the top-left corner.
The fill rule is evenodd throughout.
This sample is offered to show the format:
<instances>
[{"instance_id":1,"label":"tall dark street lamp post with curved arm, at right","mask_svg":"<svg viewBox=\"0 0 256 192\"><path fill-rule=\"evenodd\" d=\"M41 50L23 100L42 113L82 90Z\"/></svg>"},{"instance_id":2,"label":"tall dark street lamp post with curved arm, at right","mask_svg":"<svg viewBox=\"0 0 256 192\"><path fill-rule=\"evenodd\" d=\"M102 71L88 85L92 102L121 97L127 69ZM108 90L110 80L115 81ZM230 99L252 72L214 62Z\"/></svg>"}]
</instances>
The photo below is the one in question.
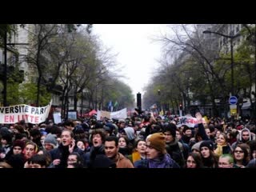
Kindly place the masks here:
<instances>
[{"instance_id":1,"label":"tall dark street lamp post with curved arm, at right","mask_svg":"<svg viewBox=\"0 0 256 192\"><path fill-rule=\"evenodd\" d=\"M221 34L218 32L210 31L210 30L204 30L202 32L203 34L218 34L219 36L222 36L224 38L230 38L230 54L231 54L231 94L234 95L234 54L233 54L233 40L234 38L237 38L240 34L236 35L226 35Z\"/></svg>"}]
</instances>

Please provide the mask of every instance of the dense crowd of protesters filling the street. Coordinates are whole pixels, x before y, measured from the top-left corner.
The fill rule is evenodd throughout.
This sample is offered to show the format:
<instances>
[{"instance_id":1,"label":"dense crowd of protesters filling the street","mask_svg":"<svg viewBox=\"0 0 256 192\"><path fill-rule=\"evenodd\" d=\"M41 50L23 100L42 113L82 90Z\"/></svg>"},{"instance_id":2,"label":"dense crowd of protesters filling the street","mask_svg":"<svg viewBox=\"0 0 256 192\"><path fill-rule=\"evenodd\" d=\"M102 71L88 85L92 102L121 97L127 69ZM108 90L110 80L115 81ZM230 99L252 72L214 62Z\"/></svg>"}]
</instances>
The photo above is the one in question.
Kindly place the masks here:
<instances>
[{"instance_id":1,"label":"dense crowd of protesters filling the street","mask_svg":"<svg viewBox=\"0 0 256 192\"><path fill-rule=\"evenodd\" d=\"M2 168L252 168L255 123L197 113L193 127L173 116L134 113L58 125L24 121L0 126Z\"/></svg>"}]
</instances>

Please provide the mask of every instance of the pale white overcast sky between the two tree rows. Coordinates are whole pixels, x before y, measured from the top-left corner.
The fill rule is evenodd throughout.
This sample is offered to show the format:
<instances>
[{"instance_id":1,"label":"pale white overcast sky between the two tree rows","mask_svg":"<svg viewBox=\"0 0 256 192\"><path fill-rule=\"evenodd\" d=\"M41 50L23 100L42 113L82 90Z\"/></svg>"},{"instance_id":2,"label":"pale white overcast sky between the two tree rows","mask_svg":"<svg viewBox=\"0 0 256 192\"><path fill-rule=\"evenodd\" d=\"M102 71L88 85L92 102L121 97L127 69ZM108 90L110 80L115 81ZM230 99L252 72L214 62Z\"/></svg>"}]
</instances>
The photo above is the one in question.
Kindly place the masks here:
<instances>
[{"instance_id":1,"label":"pale white overcast sky between the two tree rows","mask_svg":"<svg viewBox=\"0 0 256 192\"><path fill-rule=\"evenodd\" d=\"M164 32L163 24L94 24L93 33L102 43L118 54L118 66L124 66L123 82L133 90L133 94L143 93L143 87L149 83L150 76L159 65L161 44L153 42L155 35Z\"/></svg>"}]
</instances>

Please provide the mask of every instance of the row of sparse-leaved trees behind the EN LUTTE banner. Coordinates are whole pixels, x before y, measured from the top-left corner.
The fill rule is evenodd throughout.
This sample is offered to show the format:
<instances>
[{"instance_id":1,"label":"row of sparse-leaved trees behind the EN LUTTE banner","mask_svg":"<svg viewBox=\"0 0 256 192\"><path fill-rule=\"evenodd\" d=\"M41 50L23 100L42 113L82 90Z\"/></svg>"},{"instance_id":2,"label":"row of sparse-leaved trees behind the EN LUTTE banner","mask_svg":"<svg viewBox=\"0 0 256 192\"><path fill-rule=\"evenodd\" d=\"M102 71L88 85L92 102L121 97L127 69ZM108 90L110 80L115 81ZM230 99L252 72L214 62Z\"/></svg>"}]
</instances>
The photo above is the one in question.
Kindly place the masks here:
<instances>
[{"instance_id":1,"label":"row of sparse-leaved trees behind the EN LUTTE banner","mask_svg":"<svg viewBox=\"0 0 256 192\"><path fill-rule=\"evenodd\" d=\"M7 31L14 27L17 25L8 25ZM79 99L82 106L86 101L88 108L95 109L107 106L110 99L117 100L120 105L132 105L130 87L111 71L115 55L91 34L92 29L92 25L70 24L18 26L16 33L25 30L29 46L26 46L27 54L19 55L17 66L24 61L28 63L29 81L19 84L14 83L16 77L8 78L9 105L34 103L44 106L52 94L60 95L63 111L69 110L70 98L74 99L74 110L78 108Z\"/></svg>"}]
</instances>

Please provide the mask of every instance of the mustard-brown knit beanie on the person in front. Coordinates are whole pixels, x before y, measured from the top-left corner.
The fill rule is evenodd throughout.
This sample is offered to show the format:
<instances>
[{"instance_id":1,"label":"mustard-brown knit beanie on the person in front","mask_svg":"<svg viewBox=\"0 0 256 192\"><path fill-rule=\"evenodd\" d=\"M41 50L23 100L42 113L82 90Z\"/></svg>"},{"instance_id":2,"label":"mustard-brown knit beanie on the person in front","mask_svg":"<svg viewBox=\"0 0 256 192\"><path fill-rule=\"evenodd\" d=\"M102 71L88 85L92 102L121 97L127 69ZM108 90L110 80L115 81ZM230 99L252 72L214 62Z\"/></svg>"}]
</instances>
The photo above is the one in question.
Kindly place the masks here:
<instances>
[{"instance_id":1,"label":"mustard-brown knit beanie on the person in front","mask_svg":"<svg viewBox=\"0 0 256 192\"><path fill-rule=\"evenodd\" d=\"M162 133L151 134L147 140L147 145L153 147L155 150L166 154L166 140Z\"/></svg>"}]
</instances>

